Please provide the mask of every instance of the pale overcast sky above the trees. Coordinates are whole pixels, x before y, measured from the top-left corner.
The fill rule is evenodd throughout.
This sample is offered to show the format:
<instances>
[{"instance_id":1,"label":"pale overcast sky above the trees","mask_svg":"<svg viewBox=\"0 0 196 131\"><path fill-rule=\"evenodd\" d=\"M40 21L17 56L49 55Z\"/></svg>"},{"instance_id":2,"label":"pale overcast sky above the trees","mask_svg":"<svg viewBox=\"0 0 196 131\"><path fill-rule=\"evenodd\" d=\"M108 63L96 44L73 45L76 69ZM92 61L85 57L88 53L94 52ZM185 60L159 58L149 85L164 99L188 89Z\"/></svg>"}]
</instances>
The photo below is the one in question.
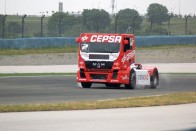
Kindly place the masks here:
<instances>
[{"instance_id":1,"label":"pale overcast sky above the trees","mask_svg":"<svg viewBox=\"0 0 196 131\"><path fill-rule=\"evenodd\" d=\"M64 12L82 12L83 9L104 9L112 13L112 0L0 0L0 14L7 15L51 15L58 11L59 2L63 2ZM137 10L141 15L147 13L152 3L166 6L169 12L181 15L196 14L196 0L114 0L114 13L130 8ZM48 12L48 13L46 13Z\"/></svg>"}]
</instances>

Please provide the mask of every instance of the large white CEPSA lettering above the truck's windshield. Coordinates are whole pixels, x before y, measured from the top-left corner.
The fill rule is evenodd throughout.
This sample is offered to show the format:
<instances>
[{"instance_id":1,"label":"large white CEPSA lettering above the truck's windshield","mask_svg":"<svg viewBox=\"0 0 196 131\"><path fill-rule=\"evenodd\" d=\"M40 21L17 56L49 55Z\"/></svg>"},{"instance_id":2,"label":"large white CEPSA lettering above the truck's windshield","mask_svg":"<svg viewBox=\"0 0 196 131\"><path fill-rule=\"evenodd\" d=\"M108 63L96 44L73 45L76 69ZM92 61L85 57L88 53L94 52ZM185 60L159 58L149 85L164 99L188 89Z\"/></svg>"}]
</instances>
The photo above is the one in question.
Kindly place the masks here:
<instances>
[{"instance_id":1,"label":"large white CEPSA lettering above the truck's windshield","mask_svg":"<svg viewBox=\"0 0 196 131\"><path fill-rule=\"evenodd\" d=\"M122 36L92 35L90 42L109 42L120 43Z\"/></svg>"}]
</instances>

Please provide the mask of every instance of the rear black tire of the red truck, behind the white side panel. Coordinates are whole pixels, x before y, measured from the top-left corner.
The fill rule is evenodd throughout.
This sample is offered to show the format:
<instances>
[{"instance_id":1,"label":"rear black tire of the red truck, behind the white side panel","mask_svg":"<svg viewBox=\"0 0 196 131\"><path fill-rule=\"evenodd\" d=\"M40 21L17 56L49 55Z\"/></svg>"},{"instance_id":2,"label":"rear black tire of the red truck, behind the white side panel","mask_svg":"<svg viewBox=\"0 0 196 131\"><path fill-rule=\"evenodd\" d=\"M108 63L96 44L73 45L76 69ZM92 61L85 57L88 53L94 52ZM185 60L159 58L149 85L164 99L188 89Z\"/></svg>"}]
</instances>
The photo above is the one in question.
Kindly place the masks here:
<instances>
[{"instance_id":1,"label":"rear black tire of the red truck, behind the white side panel","mask_svg":"<svg viewBox=\"0 0 196 131\"><path fill-rule=\"evenodd\" d=\"M153 75L150 77L150 88L156 89L159 85L158 71L154 70Z\"/></svg>"}]
</instances>

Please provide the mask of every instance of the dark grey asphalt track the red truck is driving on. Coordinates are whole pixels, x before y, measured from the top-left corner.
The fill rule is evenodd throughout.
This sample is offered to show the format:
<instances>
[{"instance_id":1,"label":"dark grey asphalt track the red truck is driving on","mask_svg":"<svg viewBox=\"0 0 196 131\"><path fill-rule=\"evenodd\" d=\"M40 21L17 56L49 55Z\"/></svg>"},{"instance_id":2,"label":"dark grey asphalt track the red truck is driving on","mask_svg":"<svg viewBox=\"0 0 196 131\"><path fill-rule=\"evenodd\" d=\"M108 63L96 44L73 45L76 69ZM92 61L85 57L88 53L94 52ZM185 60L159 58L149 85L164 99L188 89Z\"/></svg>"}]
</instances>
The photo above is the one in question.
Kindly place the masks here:
<instances>
[{"instance_id":1,"label":"dark grey asphalt track the red truck is driving on","mask_svg":"<svg viewBox=\"0 0 196 131\"><path fill-rule=\"evenodd\" d=\"M107 88L94 84L83 89L75 76L1 77L0 105L61 103L196 91L196 74L160 74L157 89Z\"/></svg>"}]
</instances>

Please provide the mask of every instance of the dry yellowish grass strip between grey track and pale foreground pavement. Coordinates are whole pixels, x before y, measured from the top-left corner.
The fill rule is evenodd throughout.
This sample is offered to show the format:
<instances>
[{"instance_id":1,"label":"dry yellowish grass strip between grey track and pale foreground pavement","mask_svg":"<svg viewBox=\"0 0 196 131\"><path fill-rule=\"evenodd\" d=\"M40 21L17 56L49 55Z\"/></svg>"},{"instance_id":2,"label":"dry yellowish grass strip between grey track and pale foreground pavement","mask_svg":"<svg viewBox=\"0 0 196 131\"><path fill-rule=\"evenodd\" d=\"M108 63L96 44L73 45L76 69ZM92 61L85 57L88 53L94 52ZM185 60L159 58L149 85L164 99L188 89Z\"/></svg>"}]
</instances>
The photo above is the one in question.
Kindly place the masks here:
<instances>
[{"instance_id":1,"label":"dry yellowish grass strip between grey track and pale foreground pavement","mask_svg":"<svg viewBox=\"0 0 196 131\"><path fill-rule=\"evenodd\" d=\"M196 92L175 93L160 96L135 97L104 101L68 102L59 104L2 105L0 112L92 110L132 108L196 103Z\"/></svg>"}]
</instances>

